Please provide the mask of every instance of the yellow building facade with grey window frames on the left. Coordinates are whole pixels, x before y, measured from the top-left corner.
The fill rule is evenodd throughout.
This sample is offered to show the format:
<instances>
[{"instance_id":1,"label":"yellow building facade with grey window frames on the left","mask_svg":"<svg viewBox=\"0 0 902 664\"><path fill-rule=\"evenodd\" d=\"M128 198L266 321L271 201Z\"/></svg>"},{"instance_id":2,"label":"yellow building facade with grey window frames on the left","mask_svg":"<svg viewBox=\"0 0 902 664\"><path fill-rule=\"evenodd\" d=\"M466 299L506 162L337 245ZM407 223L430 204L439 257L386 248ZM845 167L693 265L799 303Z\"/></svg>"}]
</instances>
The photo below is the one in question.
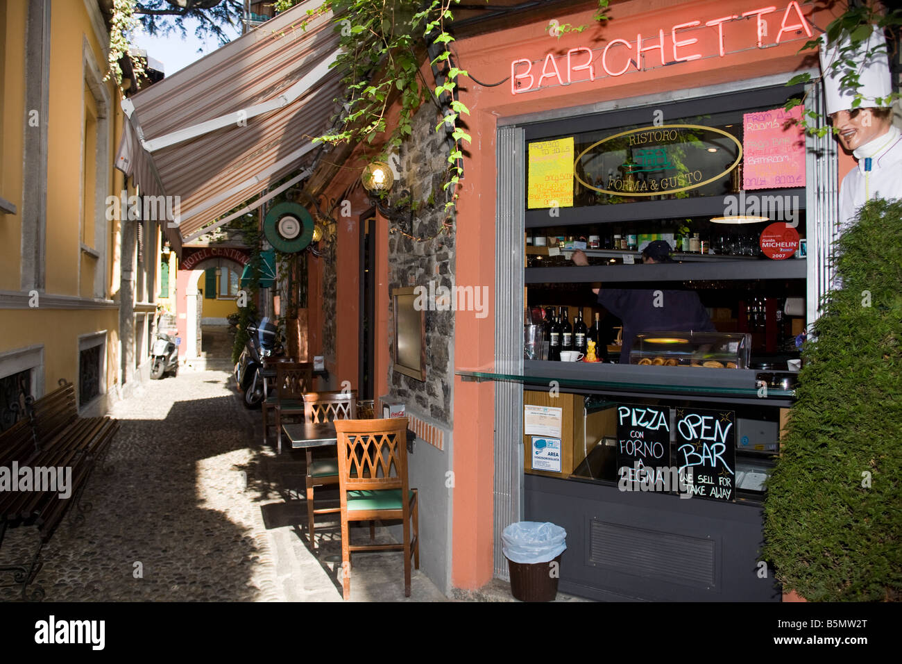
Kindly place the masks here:
<instances>
[{"instance_id":1,"label":"yellow building facade with grey window frames on the left","mask_svg":"<svg viewBox=\"0 0 902 664\"><path fill-rule=\"evenodd\" d=\"M114 168L122 94L104 80L110 5L0 0L0 413L7 423L11 404L40 397L60 379L75 383L83 412L105 412L148 365L161 236L157 224L109 210L108 197L128 191Z\"/></svg>"}]
</instances>

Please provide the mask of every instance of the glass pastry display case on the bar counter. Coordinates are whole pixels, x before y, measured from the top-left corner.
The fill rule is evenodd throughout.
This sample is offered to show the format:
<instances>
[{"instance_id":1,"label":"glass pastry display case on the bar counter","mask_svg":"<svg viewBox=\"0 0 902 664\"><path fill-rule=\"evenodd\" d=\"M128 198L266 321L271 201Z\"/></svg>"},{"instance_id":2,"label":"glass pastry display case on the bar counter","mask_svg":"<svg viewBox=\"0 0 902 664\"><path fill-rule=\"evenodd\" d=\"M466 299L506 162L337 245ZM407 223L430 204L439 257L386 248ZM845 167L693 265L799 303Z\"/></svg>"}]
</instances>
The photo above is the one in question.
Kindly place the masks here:
<instances>
[{"instance_id":1,"label":"glass pastry display case on the bar counter","mask_svg":"<svg viewBox=\"0 0 902 664\"><path fill-rule=\"evenodd\" d=\"M630 351L630 364L664 367L747 369L747 332L642 332Z\"/></svg>"}]
</instances>

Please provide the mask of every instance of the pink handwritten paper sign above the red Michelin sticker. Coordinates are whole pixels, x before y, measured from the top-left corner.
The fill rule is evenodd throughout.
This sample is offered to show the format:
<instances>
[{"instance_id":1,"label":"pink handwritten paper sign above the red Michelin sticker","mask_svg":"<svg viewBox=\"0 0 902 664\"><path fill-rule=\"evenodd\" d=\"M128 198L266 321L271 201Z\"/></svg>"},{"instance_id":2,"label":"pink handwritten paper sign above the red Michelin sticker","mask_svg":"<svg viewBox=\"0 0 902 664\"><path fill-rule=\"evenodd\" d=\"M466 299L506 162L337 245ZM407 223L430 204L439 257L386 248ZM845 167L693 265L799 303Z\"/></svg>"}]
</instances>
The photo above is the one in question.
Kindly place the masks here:
<instances>
[{"instance_id":1,"label":"pink handwritten paper sign above the red Michelin sticker","mask_svg":"<svg viewBox=\"0 0 902 664\"><path fill-rule=\"evenodd\" d=\"M742 116L744 189L805 186L803 108L775 108Z\"/></svg>"}]
</instances>

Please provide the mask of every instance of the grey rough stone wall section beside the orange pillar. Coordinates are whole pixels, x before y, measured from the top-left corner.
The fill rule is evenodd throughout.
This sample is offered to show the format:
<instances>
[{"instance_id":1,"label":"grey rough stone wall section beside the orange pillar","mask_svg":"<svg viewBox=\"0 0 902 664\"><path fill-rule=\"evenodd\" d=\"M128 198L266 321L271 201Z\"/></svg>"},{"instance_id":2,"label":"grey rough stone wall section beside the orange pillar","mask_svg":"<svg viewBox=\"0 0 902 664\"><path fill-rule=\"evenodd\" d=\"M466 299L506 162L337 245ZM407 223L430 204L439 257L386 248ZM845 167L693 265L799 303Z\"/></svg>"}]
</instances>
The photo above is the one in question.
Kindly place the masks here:
<instances>
[{"instance_id":1,"label":"grey rough stone wall section beside the orange pillar","mask_svg":"<svg viewBox=\"0 0 902 664\"><path fill-rule=\"evenodd\" d=\"M435 105L427 102L414 117L413 131L400 151L400 182L393 190L410 192L415 207L413 221L405 214L391 222L417 238L432 238L446 219L442 189L448 147L437 134ZM397 200L400 193L396 193ZM412 226L412 228L411 228ZM389 293L394 288L423 285L448 288L455 282L455 230L452 228L425 242L405 237L395 230L389 234ZM448 427L452 424L451 390L454 384L452 347L454 311L426 312L426 381L395 373L389 367L391 397ZM389 309L389 341L394 347L394 317Z\"/></svg>"}]
</instances>

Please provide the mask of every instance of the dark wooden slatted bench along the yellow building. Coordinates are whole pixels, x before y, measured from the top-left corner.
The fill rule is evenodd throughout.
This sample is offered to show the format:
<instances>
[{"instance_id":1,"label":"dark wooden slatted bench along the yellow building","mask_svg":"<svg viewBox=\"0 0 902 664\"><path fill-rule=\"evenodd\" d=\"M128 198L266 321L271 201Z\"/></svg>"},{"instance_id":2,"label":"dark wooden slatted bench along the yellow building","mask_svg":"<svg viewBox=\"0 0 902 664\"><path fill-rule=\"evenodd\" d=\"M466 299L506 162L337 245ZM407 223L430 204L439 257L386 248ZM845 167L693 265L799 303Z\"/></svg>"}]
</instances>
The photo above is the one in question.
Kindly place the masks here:
<instances>
[{"instance_id":1,"label":"dark wooden slatted bench along the yellow building","mask_svg":"<svg viewBox=\"0 0 902 664\"><path fill-rule=\"evenodd\" d=\"M119 423L106 416L79 417L71 383L62 383L30 404L27 411L25 418L0 434L0 467L10 473L14 464L20 469L28 467L34 481L38 479L36 469L41 469L42 481L50 479L49 469L61 469L63 483L69 483L62 491L57 474L55 489L44 486L42 491L35 491L32 483L31 491L0 491L0 547L6 528L36 526L41 533L29 564L0 566L0 572L13 575L12 585L22 585L23 599L40 600L44 596L40 586L31 594L27 590L41 570L41 549L50 541L69 506L78 509L77 521L84 520L90 503L82 504L82 493L91 472L103 465ZM109 472L111 468L107 466L105 470ZM67 471L71 473L68 478Z\"/></svg>"}]
</instances>

